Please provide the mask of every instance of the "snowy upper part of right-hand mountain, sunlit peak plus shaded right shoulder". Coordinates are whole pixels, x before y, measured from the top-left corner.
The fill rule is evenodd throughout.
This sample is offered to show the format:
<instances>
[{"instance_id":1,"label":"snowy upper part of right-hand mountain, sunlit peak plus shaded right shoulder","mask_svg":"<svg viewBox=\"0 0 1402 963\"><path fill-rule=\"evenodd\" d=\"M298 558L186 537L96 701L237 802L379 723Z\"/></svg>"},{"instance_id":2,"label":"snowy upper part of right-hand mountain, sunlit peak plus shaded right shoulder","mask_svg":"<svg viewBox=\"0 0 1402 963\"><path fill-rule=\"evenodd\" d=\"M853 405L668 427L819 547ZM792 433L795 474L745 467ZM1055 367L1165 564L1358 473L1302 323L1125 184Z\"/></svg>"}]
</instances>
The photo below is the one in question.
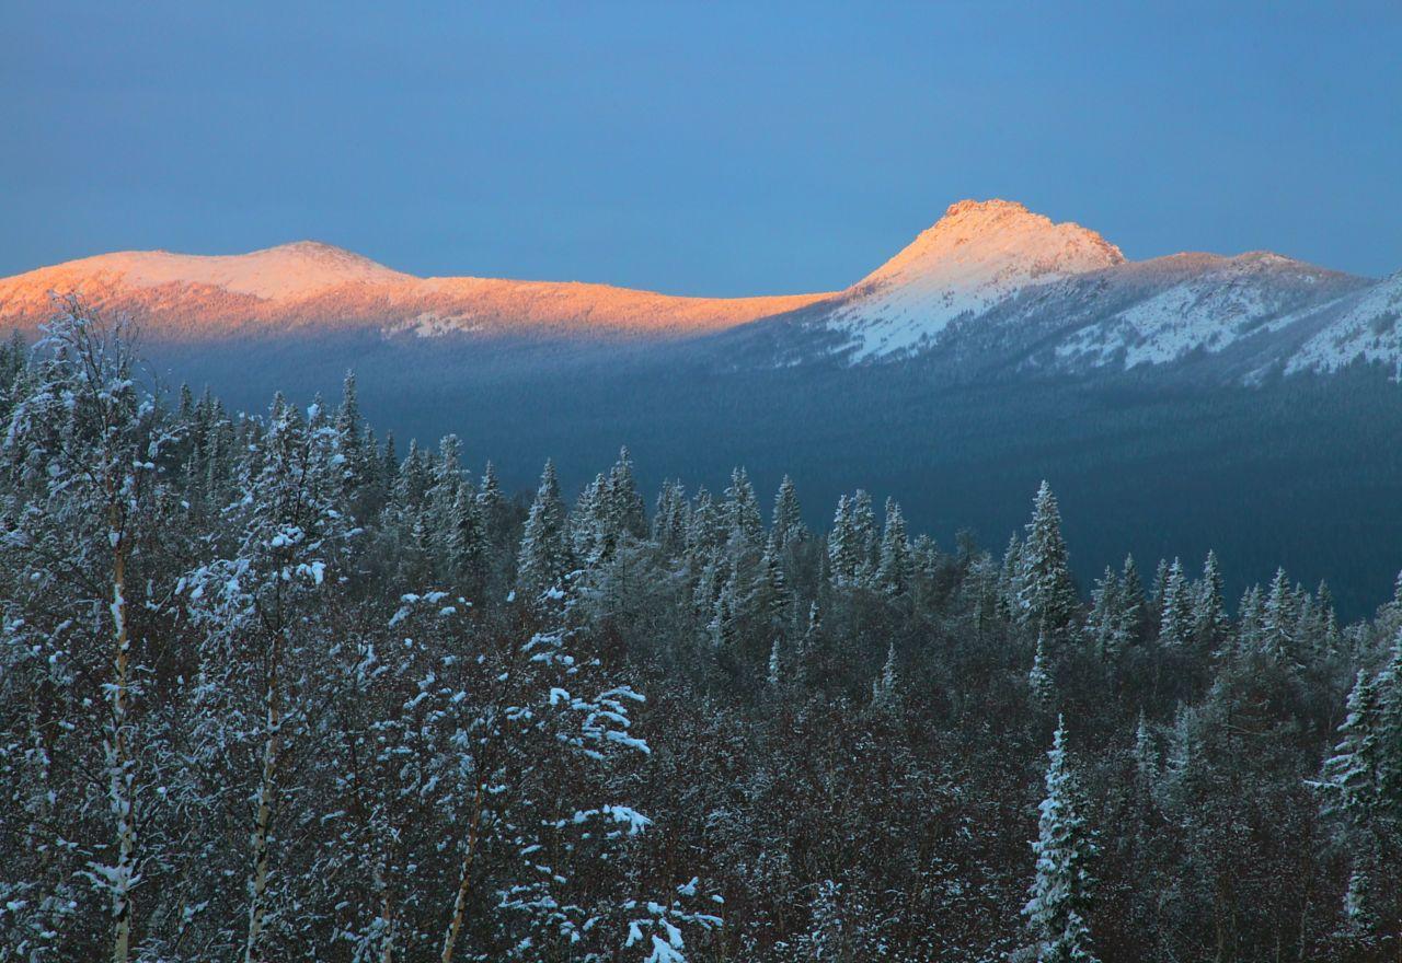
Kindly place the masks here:
<instances>
[{"instance_id":1,"label":"snowy upper part of right-hand mountain, sunlit peak plus shaded right shoulder","mask_svg":"<svg viewBox=\"0 0 1402 963\"><path fill-rule=\"evenodd\" d=\"M923 358L953 375L1214 365L1252 381L1402 364L1402 280L1375 283L1270 252L1126 260L1075 224L1001 200L953 204L834 300L768 326L775 364Z\"/></svg>"}]
</instances>

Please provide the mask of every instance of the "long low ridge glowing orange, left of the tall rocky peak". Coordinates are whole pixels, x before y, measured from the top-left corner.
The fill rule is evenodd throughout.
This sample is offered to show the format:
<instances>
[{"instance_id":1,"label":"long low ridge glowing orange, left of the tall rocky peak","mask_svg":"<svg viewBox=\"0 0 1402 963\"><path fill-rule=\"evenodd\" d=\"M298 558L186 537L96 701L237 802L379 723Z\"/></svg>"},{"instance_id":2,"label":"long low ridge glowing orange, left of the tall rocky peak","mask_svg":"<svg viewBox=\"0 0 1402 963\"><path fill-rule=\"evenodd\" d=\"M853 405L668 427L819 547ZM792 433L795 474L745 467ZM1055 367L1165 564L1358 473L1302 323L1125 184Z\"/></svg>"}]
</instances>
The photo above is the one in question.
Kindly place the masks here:
<instances>
[{"instance_id":1,"label":"long low ridge glowing orange, left of the tall rocky peak","mask_svg":"<svg viewBox=\"0 0 1402 963\"><path fill-rule=\"evenodd\" d=\"M415 336L684 336L829 297L688 298L606 284L422 279L301 241L247 255L133 251L42 267L0 280L0 319L36 323L53 312L55 293L132 315L146 335L178 340L321 328Z\"/></svg>"}]
</instances>

